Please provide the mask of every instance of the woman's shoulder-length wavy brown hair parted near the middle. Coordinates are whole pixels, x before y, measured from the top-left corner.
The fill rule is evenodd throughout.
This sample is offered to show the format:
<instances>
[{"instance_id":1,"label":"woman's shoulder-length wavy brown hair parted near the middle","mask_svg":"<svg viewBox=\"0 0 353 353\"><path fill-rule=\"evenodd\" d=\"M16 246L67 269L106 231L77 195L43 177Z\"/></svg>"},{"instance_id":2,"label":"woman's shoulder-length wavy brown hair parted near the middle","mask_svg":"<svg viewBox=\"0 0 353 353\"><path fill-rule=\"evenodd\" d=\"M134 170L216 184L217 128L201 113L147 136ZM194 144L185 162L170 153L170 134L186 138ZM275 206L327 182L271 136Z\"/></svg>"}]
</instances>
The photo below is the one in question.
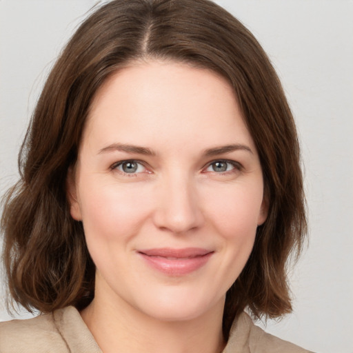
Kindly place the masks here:
<instances>
[{"instance_id":1,"label":"woman's shoulder-length wavy brown hair parted near the middle","mask_svg":"<svg viewBox=\"0 0 353 353\"><path fill-rule=\"evenodd\" d=\"M65 182L97 90L139 59L213 70L234 88L259 152L268 218L228 290L223 334L248 308L255 318L292 310L288 259L306 232L299 142L281 83L253 35L209 0L115 0L90 14L44 85L19 153L20 180L3 199L3 260L12 299L41 312L94 297L95 267L83 227L70 216Z\"/></svg>"}]
</instances>

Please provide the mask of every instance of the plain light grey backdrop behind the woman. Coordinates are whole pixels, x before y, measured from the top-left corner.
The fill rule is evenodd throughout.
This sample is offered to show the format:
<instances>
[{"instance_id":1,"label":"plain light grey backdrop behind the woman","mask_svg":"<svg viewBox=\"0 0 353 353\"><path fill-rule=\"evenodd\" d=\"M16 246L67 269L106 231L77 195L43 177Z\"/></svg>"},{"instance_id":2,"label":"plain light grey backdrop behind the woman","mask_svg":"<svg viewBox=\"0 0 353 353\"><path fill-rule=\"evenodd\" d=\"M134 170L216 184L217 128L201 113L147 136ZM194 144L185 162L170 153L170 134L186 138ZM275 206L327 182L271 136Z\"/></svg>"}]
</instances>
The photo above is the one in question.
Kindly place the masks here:
<instances>
[{"instance_id":1,"label":"plain light grey backdrop behind the woman","mask_svg":"<svg viewBox=\"0 0 353 353\"><path fill-rule=\"evenodd\" d=\"M290 272L294 313L266 330L315 352L353 353L353 1L217 2L268 52L303 150L310 240ZM0 194L17 180L43 80L95 3L0 0ZM9 320L0 296L0 321Z\"/></svg>"}]
</instances>

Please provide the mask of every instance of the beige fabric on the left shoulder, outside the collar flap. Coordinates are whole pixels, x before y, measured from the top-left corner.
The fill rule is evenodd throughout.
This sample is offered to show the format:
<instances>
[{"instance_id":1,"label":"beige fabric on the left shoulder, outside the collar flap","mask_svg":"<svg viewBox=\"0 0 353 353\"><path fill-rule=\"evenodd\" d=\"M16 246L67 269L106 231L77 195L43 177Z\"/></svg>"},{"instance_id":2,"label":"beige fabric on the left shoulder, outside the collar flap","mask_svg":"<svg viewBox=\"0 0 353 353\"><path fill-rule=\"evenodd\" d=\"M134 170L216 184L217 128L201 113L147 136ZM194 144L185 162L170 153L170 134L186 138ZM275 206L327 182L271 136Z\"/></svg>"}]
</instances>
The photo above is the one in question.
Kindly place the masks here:
<instances>
[{"instance_id":1,"label":"beige fabric on the left shoulder, outside the collar flap","mask_svg":"<svg viewBox=\"0 0 353 353\"><path fill-rule=\"evenodd\" d=\"M53 314L0 323L0 353L52 352L52 347L55 352L68 352Z\"/></svg>"}]
</instances>

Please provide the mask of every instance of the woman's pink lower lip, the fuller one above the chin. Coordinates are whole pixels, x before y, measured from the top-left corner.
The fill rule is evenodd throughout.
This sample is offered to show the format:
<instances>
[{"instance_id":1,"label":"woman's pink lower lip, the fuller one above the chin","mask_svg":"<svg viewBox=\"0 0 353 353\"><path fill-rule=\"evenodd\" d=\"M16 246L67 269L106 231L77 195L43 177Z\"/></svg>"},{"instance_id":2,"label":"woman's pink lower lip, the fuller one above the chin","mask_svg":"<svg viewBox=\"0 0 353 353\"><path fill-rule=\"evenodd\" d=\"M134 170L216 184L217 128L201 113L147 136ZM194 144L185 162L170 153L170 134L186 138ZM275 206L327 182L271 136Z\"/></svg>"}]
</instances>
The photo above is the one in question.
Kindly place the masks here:
<instances>
[{"instance_id":1,"label":"woman's pink lower lip, the fuller one above the chin","mask_svg":"<svg viewBox=\"0 0 353 353\"><path fill-rule=\"evenodd\" d=\"M202 256L195 256L190 259L168 259L163 256L148 256L141 252L139 254L155 270L158 270L163 274L168 274L169 276L183 276L199 270L199 268L208 262L213 252L209 252Z\"/></svg>"}]
</instances>

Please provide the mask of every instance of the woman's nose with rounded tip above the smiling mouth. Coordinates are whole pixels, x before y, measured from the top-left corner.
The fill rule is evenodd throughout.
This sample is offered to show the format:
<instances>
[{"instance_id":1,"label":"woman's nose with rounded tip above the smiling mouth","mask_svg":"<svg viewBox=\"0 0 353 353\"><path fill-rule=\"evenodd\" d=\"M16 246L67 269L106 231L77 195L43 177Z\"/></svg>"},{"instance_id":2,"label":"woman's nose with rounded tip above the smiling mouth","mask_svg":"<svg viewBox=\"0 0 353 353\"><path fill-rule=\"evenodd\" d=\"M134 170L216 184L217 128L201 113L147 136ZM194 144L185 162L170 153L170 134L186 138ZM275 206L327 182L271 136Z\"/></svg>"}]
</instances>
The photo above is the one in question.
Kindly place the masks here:
<instances>
[{"instance_id":1,"label":"woman's nose with rounded tip above the smiling mouth","mask_svg":"<svg viewBox=\"0 0 353 353\"><path fill-rule=\"evenodd\" d=\"M154 211L157 228L183 234L203 225L204 216L194 183L188 177L166 178L159 185Z\"/></svg>"}]
</instances>

